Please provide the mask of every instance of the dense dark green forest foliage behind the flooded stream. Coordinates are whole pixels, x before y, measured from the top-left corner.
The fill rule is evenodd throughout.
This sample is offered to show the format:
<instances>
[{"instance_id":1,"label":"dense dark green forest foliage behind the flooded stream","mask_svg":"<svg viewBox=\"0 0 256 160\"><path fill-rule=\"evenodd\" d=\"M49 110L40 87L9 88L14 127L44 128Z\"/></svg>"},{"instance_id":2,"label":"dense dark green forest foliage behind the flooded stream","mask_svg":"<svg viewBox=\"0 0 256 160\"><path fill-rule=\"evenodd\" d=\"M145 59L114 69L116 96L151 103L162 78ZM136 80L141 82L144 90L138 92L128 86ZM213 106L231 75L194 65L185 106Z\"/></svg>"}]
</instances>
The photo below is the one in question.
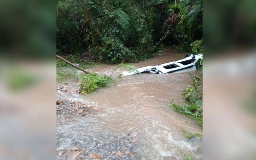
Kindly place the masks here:
<instances>
[{"instance_id":1,"label":"dense dark green forest foliage behind the flooded stream","mask_svg":"<svg viewBox=\"0 0 256 160\"><path fill-rule=\"evenodd\" d=\"M148 59L169 43L201 52L202 12L202 0L57 0L57 52L111 63Z\"/></svg>"}]
</instances>

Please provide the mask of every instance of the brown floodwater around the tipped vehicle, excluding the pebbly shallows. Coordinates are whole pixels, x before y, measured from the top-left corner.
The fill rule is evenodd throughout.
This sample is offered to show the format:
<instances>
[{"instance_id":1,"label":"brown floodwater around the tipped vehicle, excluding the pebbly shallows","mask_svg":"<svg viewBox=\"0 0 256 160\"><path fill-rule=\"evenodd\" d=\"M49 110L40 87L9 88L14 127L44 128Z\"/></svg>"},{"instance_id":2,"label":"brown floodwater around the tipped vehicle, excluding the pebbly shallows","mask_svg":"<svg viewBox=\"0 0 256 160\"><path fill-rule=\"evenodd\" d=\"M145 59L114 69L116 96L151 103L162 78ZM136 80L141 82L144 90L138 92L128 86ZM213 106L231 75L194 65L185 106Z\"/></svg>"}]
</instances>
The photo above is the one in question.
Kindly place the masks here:
<instances>
[{"instance_id":1,"label":"brown floodwater around the tipped vehicle, excluding the pebbly shallows","mask_svg":"<svg viewBox=\"0 0 256 160\"><path fill-rule=\"evenodd\" d=\"M178 54L173 49L166 50L166 53L156 58L134 65L136 68L145 67L185 57L185 54ZM109 75L115 67L116 65L99 65L90 71ZM100 89L96 93L75 95L78 100L99 106L98 116L91 120L76 119L74 123L57 124L57 135L65 137L64 132L71 132L72 136L83 139L79 133L83 132L84 128L90 130L95 137L106 132L134 132L137 135L136 143L139 144L138 152L141 157L181 159L185 153L192 158L201 159L202 140L186 140L181 129L183 127L202 134L201 127L169 106L172 99L182 99L180 94L191 82L189 72L130 75L124 76L122 80L116 79L115 85ZM68 136L66 138L68 139Z\"/></svg>"}]
</instances>

